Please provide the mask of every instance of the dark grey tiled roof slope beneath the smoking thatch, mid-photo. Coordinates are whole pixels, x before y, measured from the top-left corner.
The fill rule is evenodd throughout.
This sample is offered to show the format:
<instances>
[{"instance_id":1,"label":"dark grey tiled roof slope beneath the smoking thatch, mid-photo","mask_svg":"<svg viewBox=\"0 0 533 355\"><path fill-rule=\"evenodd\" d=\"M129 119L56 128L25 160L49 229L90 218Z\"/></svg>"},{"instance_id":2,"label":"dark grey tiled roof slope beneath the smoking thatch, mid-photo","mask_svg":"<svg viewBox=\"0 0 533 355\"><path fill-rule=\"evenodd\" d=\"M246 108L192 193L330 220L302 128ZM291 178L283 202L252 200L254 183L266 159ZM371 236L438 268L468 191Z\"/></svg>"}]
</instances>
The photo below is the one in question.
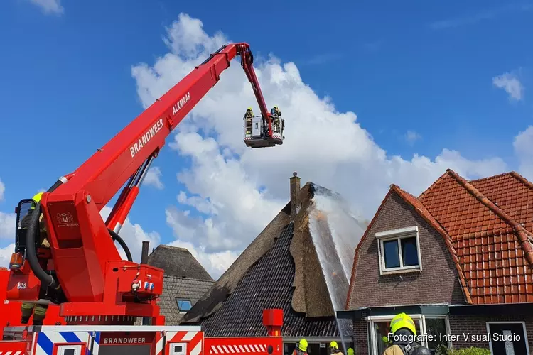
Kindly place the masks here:
<instances>
[{"instance_id":1,"label":"dark grey tiled roof slope beneath the smoking thatch, mid-photo","mask_svg":"<svg viewBox=\"0 0 533 355\"><path fill-rule=\"evenodd\" d=\"M214 315L201 322L210 337L249 337L266 335L262 312L266 308L284 310L285 337L334 337L338 335L333 317L306 318L291 307L294 262L289 246L294 224L284 228L273 248L267 252L235 288L234 293Z\"/></svg>"}]
</instances>

